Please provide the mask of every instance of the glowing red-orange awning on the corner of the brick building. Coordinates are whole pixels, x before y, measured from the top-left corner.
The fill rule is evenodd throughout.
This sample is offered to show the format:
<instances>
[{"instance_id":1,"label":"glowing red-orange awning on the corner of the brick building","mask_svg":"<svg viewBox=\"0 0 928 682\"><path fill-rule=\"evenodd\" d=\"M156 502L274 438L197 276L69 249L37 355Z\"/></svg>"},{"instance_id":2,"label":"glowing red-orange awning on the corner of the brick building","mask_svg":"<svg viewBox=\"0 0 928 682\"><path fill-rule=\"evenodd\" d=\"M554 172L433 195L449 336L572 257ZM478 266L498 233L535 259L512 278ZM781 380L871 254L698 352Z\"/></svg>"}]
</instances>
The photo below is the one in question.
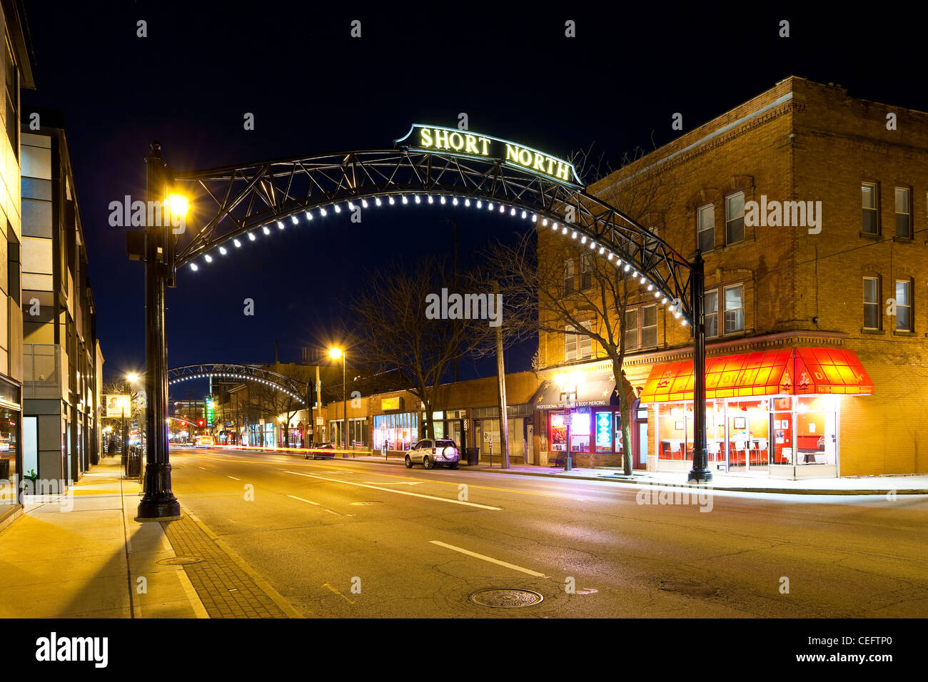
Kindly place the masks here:
<instances>
[{"instance_id":1,"label":"glowing red-orange awning on the corner of the brick building","mask_svg":"<svg viewBox=\"0 0 928 682\"><path fill-rule=\"evenodd\" d=\"M693 384L692 362L655 365L641 392L641 402L692 400ZM707 400L824 393L873 393L873 383L857 354L833 348L787 348L720 355L705 361Z\"/></svg>"}]
</instances>

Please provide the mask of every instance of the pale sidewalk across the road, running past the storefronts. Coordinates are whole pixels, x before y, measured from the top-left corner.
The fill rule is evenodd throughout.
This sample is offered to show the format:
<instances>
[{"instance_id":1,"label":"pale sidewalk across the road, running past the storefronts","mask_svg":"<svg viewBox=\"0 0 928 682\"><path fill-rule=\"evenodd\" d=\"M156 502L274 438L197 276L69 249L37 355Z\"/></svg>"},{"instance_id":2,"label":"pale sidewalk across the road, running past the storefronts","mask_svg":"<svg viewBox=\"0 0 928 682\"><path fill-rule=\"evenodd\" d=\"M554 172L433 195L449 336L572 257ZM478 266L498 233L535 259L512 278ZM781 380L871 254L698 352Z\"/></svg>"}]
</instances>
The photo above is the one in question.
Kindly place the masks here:
<instances>
[{"instance_id":1,"label":"pale sidewalk across the road, running past the storefronts","mask_svg":"<svg viewBox=\"0 0 928 682\"><path fill-rule=\"evenodd\" d=\"M231 449L231 448L230 448ZM278 455L289 454L286 450L278 449ZM369 451L366 451L369 452ZM403 457L394 453L389 458L358 455L342 457L336 455L338 461L380 462L386 464L404 465ZM294 455L293 457L303 457ZM420 467L417 467L421 469ZM625 476L620 469L598 467L596 469L577 469L564 471L562 467L541 467L532 464L521 464L509 467L507 470L499 468L498 458L491 467L489 463L481 462L476 466L461 464L461 470L481 471L485 473L509 473L522 476L546 476L559 479L573 479L578 481L610 481L630 485L688 485L686 471L656 472L634 471L631 476ZM766 475L748 475L737 473L713 472L711 486L714 490L730 490L744 493L773 493L780 495L928 495L928 474L898 475L898 476L857 476L844 478L806 479L805 481L788 481L785 479L771 479Z\"/></svg>"}]
</instances>

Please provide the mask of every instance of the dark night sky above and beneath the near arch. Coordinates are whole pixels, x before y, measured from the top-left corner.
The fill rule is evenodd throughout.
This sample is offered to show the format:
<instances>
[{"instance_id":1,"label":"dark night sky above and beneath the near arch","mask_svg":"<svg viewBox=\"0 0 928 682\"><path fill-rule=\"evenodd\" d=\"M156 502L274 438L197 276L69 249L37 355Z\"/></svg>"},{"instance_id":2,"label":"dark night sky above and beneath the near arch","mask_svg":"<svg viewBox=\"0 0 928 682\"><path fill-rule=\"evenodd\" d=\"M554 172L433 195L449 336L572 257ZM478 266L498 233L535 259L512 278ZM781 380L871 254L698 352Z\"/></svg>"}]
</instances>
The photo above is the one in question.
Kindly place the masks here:
<instances>
[{"instance_id":1,"label":"dark night sky above and beneath the near arch","mask_svg":"<svg viewBox=\"0 0 928 682\"><path fill-rule=\"evenodd\" d=\"M928 110L923 36L903 7L862 19L805 5L508 5L114 2L91 12L27 0L37 90L22 92L23 114L64 113L105 377L144 364L143 266L127 260L108 206L141 198L152 139L175 169L192 170L389 148L412 122L456 126L466 112L472 131L561 157L595 143L614 168L624 151L679 135L674 112L685 133L789 75ZM564 37L567 19L576 38ZM780 19L790 38L778 37ZM168 293L170 365L270 362L276 339L282 360L299 361L302 345L342 341L366 269L449 252L453 217L465 255L522 226L450 206L394 207L361 225L344 212L184 269ZM242 315L245 298L254 316ZM508 370L527 369L533 350L513 349ZM464 378L494 371L465 365Z\"/></svg>"}]
</instances>

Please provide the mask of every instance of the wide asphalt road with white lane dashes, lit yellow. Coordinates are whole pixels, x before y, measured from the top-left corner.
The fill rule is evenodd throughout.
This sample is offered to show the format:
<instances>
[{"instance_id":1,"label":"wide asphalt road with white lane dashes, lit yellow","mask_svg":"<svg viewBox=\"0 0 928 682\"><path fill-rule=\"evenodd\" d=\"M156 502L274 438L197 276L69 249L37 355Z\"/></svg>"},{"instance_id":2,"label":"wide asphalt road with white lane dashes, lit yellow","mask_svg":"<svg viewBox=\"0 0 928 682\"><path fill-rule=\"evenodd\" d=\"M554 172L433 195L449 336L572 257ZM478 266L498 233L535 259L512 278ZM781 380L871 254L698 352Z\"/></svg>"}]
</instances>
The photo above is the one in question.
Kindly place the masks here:
<instances>
[{"instance_id":1,"label":"wide asphalt road with white lane dashes, lit yellow","mask_svg":"<svg viewBox=\"0 0 928 682\"><path fill-rule=\"evenodd\" d=\"M928 616L928 496L661 504L649 487L642 504L638 486L466 467L175 448L172 463L184 508L309 617ZM495 587L544 600L468 600Z\"/></svg>"}]
</instances>

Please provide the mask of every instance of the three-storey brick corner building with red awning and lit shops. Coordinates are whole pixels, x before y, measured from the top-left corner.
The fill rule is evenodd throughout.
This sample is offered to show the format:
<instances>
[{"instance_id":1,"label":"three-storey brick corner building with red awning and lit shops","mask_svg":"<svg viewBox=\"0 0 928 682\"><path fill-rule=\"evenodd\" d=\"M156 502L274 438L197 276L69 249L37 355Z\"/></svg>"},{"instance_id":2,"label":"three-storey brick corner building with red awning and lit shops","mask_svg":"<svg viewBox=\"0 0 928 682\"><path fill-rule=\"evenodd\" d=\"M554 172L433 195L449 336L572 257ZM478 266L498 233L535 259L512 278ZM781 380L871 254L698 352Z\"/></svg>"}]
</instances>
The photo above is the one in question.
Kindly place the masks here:
<instances>
[{"instance_id":1,"label":"three-storey brick corner building with red awning and lit shops","mask_svg":"<svg viewBox=\"0 0 928 682\"><path fill-rule=\"evenodd\" d=\"M588 191L625 209L649 182L630 214L705 259L710 468L928 471L928 114L791 77ZM577 258L560 232L538 238ZM635 290L624 320L633 462L689 470L690 328L661 303ZM538 451L617 464L610 363L583 335L539 343Z\"/></svg>"}]
</instances>

